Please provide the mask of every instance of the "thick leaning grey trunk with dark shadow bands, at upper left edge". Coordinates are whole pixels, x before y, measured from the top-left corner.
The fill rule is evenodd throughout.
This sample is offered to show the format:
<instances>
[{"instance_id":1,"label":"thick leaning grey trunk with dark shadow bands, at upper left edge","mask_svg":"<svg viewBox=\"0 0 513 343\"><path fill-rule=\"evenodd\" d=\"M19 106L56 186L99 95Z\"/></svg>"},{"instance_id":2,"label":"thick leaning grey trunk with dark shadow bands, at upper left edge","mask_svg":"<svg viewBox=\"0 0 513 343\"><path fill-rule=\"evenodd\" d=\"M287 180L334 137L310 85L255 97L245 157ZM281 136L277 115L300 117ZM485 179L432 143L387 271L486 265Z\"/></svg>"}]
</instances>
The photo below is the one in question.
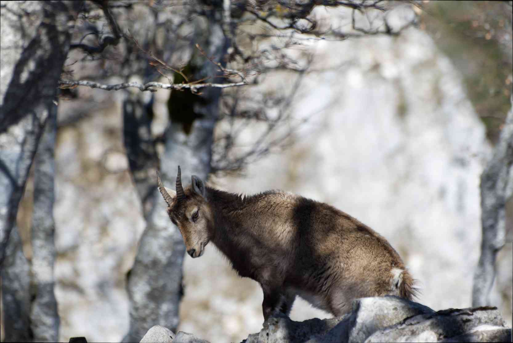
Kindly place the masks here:
<instances>
[{"instance_id":1,"label":"thick leaning grey trunk with dark shadow bands, at upper left edge","mask_svg":"<svg viewBox=\"0 0 513 343\"><path fill-rule=\"evenodd\" d=\"M80 3L2 5L0 265L68 53L68 6Z\"/></svg>"}]
</instances>

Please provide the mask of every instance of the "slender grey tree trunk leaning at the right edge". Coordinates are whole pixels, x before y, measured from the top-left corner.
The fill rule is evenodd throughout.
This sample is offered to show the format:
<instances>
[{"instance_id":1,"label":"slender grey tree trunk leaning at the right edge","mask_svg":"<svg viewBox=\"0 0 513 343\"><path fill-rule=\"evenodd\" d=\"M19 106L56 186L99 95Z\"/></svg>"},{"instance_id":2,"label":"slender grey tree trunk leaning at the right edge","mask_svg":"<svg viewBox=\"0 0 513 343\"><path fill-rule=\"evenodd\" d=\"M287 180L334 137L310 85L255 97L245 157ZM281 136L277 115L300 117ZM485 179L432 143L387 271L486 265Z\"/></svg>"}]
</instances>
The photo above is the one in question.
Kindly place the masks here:
<instances>
[{"instance_id":1,"label":"slender grey tree trunk leaning at the right edge","mask_svg":"<svg viewBox=\"0 0 513 343\"><path fill-rule=\"evenodd\" d=\"M481 176L481 256L474 274L472 307L491 305L495 259L506 244L506 203L513 195L513 98L494 156Z\"/></svg>"}]
</instances>

